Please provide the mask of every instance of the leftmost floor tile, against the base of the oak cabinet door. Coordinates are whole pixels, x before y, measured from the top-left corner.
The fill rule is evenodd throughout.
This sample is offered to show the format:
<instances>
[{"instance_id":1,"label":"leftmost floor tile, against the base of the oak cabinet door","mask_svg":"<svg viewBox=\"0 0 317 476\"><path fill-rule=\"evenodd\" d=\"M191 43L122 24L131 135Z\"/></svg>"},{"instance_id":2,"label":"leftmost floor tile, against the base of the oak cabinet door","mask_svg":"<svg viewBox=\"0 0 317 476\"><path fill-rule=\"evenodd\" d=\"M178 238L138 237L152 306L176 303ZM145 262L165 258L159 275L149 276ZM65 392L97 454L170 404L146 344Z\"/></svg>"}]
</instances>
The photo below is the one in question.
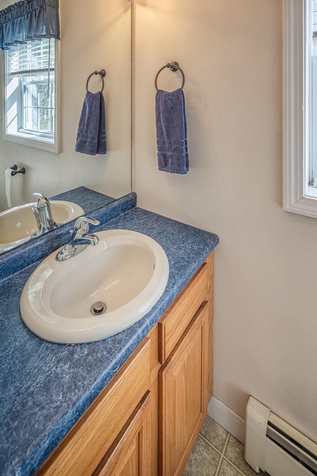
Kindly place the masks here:
<instances>
[{"instance_id":1,"label":"leftmost floor tile, against the base of the oak cabinet door","mask_svg":"<svg viewBox=\"0 0 317 476\"><path fill-rule=\"evenodd\" d=\"M183 476L214 476L219 461L220 455L199 436Z\"/></svg>"}]
</instances>

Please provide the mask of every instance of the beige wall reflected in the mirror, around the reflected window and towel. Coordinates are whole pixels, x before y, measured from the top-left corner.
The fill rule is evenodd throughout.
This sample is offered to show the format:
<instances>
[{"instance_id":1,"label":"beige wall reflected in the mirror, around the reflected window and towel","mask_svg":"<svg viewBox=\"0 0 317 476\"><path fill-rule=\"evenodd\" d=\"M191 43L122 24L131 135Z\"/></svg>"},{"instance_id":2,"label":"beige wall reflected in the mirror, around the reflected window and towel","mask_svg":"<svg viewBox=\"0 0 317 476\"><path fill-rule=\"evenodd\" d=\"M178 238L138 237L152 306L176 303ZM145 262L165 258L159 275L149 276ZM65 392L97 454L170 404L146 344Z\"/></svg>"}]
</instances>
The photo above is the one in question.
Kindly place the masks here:
<instances>
[{"instance_id":1,"label":"beige wall reflected in the mirror, around the reflected window and towel","mask_svg":"<svg viewBox=\"0 0 317 476\"><path fill-rule=\"evenodd\" d=\"M0 9L13 2L0 0ZM79 195L88 191L91 198L90 205L83 207L87 214L103 204L103 196L106 203L131 191L131 1L59 0L59 15L60 153L3 140L0 135L0 215L8 209L5 169L15 164L26 173L10 179L11 208L36 201L35 192L48 198L61 194L76 203L78 194L74 192L72 200L72 190L79 187ZM2 86L4 52L0 56ZM87 78L102 69L106 70L107 153L91 156L75 152L76 133ZM101 77L93 75L89 90L97 92L101 86Z\"/></svg>"}]
</instances>

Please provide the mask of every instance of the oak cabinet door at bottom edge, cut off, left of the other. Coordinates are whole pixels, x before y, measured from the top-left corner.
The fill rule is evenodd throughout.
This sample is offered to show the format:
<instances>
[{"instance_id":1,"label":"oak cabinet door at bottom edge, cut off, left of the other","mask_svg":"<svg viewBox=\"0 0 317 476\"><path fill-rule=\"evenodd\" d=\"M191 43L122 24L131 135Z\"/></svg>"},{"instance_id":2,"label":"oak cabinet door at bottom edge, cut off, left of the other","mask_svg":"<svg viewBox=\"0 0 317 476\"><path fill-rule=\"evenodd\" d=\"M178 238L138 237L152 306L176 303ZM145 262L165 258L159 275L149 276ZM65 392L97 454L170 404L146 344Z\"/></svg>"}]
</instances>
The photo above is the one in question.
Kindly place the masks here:
<instances>
[{"instance_id":1,"label":"oak cabinet door at bottom edge, cut off, left of the other","mask_svg":"<svg viewBox=\"0 0 317 476\"><path fill-rule=\"evenodd\" d=\"M93 476L149 476L150 455L151 393L148 391Z\"/></svg>"}]
</instances>

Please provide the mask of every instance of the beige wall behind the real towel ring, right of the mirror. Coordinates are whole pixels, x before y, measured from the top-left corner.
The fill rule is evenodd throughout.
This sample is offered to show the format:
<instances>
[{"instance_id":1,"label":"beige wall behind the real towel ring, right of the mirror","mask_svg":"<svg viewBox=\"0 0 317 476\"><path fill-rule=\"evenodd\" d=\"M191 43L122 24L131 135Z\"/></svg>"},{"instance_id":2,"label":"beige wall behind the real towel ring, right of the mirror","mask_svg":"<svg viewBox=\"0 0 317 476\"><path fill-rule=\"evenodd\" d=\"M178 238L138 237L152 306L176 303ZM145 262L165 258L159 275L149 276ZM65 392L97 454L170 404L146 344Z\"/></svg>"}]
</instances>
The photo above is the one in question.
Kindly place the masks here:
<instances>
[{"instance_id":1,"label":"beige wall behind the real towel ring, right of the mirror","mask_svg":"<svg viewBox=\"0 0 317 476\"><path fill-rule=\"evenodd\" d=\"M282 210L282 1L136 0L135 55L138 205L220 238L214 395L244 417L251 394L317 442L317 221ZM173 60L186 176L157 167L154 78Z\"/></svg>"}]
</instances>

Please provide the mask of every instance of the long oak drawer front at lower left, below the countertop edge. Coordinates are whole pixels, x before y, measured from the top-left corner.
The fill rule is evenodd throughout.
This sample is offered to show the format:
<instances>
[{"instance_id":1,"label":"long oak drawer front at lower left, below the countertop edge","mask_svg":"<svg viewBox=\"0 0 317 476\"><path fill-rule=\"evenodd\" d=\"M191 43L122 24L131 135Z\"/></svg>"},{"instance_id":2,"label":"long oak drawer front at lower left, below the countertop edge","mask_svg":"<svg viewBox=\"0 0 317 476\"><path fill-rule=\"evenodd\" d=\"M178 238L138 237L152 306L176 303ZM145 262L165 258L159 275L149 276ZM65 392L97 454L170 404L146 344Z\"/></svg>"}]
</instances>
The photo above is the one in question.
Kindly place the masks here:
<instances>
[{"instance_id":1,"label":"long oak drawer front at lower left, below the countertop edge","mask_svg":"<svg viewBox=\"0 0 317 476\"><path fill-rule=\"evenodd\" d=\"M89 476L150 387L146 338L66 435L37 476Z\"/></svg>"}]
</instances>

